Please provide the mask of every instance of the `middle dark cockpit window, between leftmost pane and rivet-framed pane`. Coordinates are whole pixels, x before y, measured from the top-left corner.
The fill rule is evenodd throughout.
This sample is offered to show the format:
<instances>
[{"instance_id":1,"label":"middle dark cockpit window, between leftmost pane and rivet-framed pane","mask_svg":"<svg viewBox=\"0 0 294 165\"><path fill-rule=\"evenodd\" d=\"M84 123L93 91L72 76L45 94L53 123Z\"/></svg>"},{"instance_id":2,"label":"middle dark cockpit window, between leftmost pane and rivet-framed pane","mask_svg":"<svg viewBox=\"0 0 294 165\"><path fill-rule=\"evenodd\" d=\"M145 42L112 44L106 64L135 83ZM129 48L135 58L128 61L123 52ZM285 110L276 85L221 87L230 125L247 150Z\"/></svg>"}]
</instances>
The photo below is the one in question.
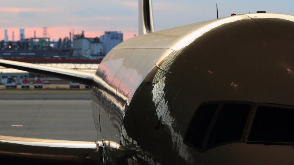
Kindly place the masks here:
<instances>
[{"instance_id":1,"label":"middle dark cockpit window, between leftmost pane and rivet-framed pane","mask_svg":"<svg viewBox=\"0 0 294 165\"><path fill-rule=\"evenodd\" d=\"M207 147L242 138L251 105L224 104L214 124Z\"/></svg>"}]
</instances>

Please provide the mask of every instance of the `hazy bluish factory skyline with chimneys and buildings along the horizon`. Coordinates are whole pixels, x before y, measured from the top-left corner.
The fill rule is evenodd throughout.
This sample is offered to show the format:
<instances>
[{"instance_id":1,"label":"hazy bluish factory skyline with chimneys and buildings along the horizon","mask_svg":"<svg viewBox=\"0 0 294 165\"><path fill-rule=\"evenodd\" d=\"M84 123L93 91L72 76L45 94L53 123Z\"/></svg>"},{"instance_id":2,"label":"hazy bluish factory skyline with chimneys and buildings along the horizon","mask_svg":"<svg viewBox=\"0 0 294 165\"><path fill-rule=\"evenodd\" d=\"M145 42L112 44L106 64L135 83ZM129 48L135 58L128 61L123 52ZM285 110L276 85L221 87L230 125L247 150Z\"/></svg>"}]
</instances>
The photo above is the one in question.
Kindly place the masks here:
<instances>
[{"instance_id":1,"label":"hazy bluish factory skyline with chimneys and buildings along the horizon","mask_svg":"<svg viewBox=\"0 0 294 165\"><path fill-rule=\"evenodd\" d=\"M4 40L0 41L0 58L81 58L101 59L112 48L123 41L123 33L105 31L105 34L96 38L88 38L81 34L69 33L69 37L50 41L47 37L47 28L43 29L43 37L25 38L25 29L19 29L19 41L9 41L8 30L4 30ZM10 39L11 40L11 39ZM30 55L30 56L26 56Z\"/></svg>"}]
</instances>

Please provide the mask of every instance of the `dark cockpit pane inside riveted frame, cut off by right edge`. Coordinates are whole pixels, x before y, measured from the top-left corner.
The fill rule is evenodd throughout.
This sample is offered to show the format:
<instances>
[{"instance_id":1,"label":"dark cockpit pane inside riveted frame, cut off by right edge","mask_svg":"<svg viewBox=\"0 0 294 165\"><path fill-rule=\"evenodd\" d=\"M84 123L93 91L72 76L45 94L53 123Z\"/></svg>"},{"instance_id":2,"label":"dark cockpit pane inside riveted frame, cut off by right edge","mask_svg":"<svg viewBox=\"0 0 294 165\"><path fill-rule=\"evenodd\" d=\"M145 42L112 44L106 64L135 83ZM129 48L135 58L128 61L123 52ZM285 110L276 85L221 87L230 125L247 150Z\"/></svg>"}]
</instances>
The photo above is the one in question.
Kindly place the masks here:
<instances>
[{"instance_id":1,"label":"dark cockpit pane inside riveted frame, cut off by right edge","mask_svg":"<svg viewBox=\"0 0 294 165\"><path fill-rule=\"evenodd\" d=\"M248 141L293 143L293 117L294 109L258 106Z\"/></svg>"}]
</instances>

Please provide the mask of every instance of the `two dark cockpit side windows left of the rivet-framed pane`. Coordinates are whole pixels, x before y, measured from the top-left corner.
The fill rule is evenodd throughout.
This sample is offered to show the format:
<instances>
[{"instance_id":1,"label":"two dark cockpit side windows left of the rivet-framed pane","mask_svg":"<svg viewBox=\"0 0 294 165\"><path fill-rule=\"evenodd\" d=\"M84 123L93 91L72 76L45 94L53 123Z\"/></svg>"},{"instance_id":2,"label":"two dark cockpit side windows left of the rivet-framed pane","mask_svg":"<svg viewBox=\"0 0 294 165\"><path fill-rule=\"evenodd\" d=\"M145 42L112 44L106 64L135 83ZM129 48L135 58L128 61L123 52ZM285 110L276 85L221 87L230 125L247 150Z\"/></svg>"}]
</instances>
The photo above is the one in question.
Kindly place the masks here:
<instances>
[{"instance_id":1,"label":"two dark cockpit side windows left of the rivet-framed pane","mask_svg":"<svg viewBox=\"0 0 294 165\"><path fill-rule=\"evenodd\" d=\"M240 101L201 104L191 119L184 143L205 151L219 144L240 141L253 105L253 102Z\"/></svg>"}]
</instances>

